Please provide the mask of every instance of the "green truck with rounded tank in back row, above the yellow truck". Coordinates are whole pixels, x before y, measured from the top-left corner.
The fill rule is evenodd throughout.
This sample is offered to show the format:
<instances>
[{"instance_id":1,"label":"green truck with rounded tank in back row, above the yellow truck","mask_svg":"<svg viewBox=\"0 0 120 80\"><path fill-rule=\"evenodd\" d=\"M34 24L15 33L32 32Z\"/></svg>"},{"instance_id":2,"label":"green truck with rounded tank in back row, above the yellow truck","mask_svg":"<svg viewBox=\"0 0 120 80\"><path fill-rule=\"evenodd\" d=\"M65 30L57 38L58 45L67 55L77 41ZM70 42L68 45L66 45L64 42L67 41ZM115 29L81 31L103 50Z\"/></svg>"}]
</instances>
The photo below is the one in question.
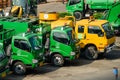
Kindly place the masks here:
<instances>
[{"instance_id":1,"label":"green truck with rounded tank in back row, above the yellow truck","mask_svg":"<svg viewBox=\"0 0 120 80\"><path fill-rule=\"evenodd\" d=\"M68 0L66 10L72 13L76 20L92 15L95 11L106 11L120 0Z\"/></svg>"}]
</instances>

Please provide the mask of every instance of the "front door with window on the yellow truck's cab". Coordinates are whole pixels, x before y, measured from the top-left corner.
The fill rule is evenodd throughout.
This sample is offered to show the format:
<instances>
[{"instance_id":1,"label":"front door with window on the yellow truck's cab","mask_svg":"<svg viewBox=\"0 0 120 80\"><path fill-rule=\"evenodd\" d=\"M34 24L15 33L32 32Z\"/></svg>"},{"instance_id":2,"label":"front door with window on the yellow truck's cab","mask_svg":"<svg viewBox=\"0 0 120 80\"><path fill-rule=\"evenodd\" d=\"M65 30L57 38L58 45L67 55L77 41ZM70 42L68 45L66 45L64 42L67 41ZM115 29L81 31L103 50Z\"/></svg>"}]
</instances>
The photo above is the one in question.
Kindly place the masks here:
<instances>
[{"instance_id":1,"label":"front door with window on the yellow truck's cab","mask_svg":"<svg viewBox=\"0 0 120 80\"><path fill-rule=\"evenodd\" d=\"M95 44L96 46L102 44L104 41L104 33L99 26L88 26L86 32L86 42L88 44Z\"/></svg>"}]
</instances>

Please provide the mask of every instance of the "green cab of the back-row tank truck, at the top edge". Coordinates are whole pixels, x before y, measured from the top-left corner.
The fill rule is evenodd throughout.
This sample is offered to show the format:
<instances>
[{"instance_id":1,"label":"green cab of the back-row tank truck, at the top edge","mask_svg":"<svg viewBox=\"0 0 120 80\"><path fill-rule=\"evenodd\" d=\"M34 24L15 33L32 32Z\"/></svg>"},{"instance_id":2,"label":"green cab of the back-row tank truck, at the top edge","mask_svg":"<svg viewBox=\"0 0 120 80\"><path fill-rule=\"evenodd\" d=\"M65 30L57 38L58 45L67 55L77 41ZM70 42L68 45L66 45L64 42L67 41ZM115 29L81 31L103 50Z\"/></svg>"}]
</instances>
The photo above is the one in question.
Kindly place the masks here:
<instances>
[{"instance_id":1,"label":"green cab of the back-row tank truck, at the top edge","mask_svg":"<svg viewBox=\"0 0 120 80\"><path fill-rule=\"evenodd\" d=\"M66 4L66 9L68 12L82 11L83 10L83 0L69 0Z\"/></svg>"}]
</instances>

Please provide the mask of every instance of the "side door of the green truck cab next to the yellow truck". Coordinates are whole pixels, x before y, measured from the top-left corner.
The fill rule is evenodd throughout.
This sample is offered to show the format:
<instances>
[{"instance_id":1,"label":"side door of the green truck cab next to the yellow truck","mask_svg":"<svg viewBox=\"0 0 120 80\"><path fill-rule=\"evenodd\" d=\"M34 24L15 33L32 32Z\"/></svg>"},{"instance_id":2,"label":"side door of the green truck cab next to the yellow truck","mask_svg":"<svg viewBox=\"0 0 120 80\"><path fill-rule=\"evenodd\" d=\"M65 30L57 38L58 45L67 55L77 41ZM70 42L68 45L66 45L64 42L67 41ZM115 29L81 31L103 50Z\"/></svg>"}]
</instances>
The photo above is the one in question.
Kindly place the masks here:
<instances>
[{"instance_id":1,"label":"side door of the green truck cab next to the yellow truck","mask_svg":"<svg viewBox=\"0 0 120 80\"><path fill-rule=\"evenodd\" d=\"M53 35L50 39L51 51L59 51L62 56L68 56L71 52L71 47L69 44L69 38L66 33L53 32Z\"/></svg>"}]
</instances>

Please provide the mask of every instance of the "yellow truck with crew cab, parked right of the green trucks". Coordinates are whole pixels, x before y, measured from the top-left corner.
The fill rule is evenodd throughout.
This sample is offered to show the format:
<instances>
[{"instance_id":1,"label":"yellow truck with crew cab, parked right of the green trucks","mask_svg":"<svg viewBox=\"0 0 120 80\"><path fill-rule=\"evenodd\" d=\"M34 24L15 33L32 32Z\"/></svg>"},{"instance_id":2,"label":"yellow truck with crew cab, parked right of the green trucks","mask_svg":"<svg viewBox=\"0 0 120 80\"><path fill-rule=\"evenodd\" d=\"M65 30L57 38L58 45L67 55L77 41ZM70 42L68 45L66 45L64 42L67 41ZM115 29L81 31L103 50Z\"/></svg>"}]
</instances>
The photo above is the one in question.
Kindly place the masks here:
<instances>
[{"instance_id":1,"label":"yellow truck with crew cab, parked right of the green trucks","mask_svg":"<svg viewBox=\"0 0 120 80\"><path fill-rule=\"evenodd\" d=\"M45 13L43 17L42 15L43 13L40 14L40 21L51 24L52 28L69 25L73 29L72 34L79 40L76 43L76 47L80 47L81 54L87 59L95 60L99 57L99 54L109 53L115 47L114 30L107 20L90 17L89 19L76 21L74 16L57 18L55 16L56 13L50 13L50 15L49 13ZM50 19L53 21L50 21Z\"/></svg>"}]
</instances>

